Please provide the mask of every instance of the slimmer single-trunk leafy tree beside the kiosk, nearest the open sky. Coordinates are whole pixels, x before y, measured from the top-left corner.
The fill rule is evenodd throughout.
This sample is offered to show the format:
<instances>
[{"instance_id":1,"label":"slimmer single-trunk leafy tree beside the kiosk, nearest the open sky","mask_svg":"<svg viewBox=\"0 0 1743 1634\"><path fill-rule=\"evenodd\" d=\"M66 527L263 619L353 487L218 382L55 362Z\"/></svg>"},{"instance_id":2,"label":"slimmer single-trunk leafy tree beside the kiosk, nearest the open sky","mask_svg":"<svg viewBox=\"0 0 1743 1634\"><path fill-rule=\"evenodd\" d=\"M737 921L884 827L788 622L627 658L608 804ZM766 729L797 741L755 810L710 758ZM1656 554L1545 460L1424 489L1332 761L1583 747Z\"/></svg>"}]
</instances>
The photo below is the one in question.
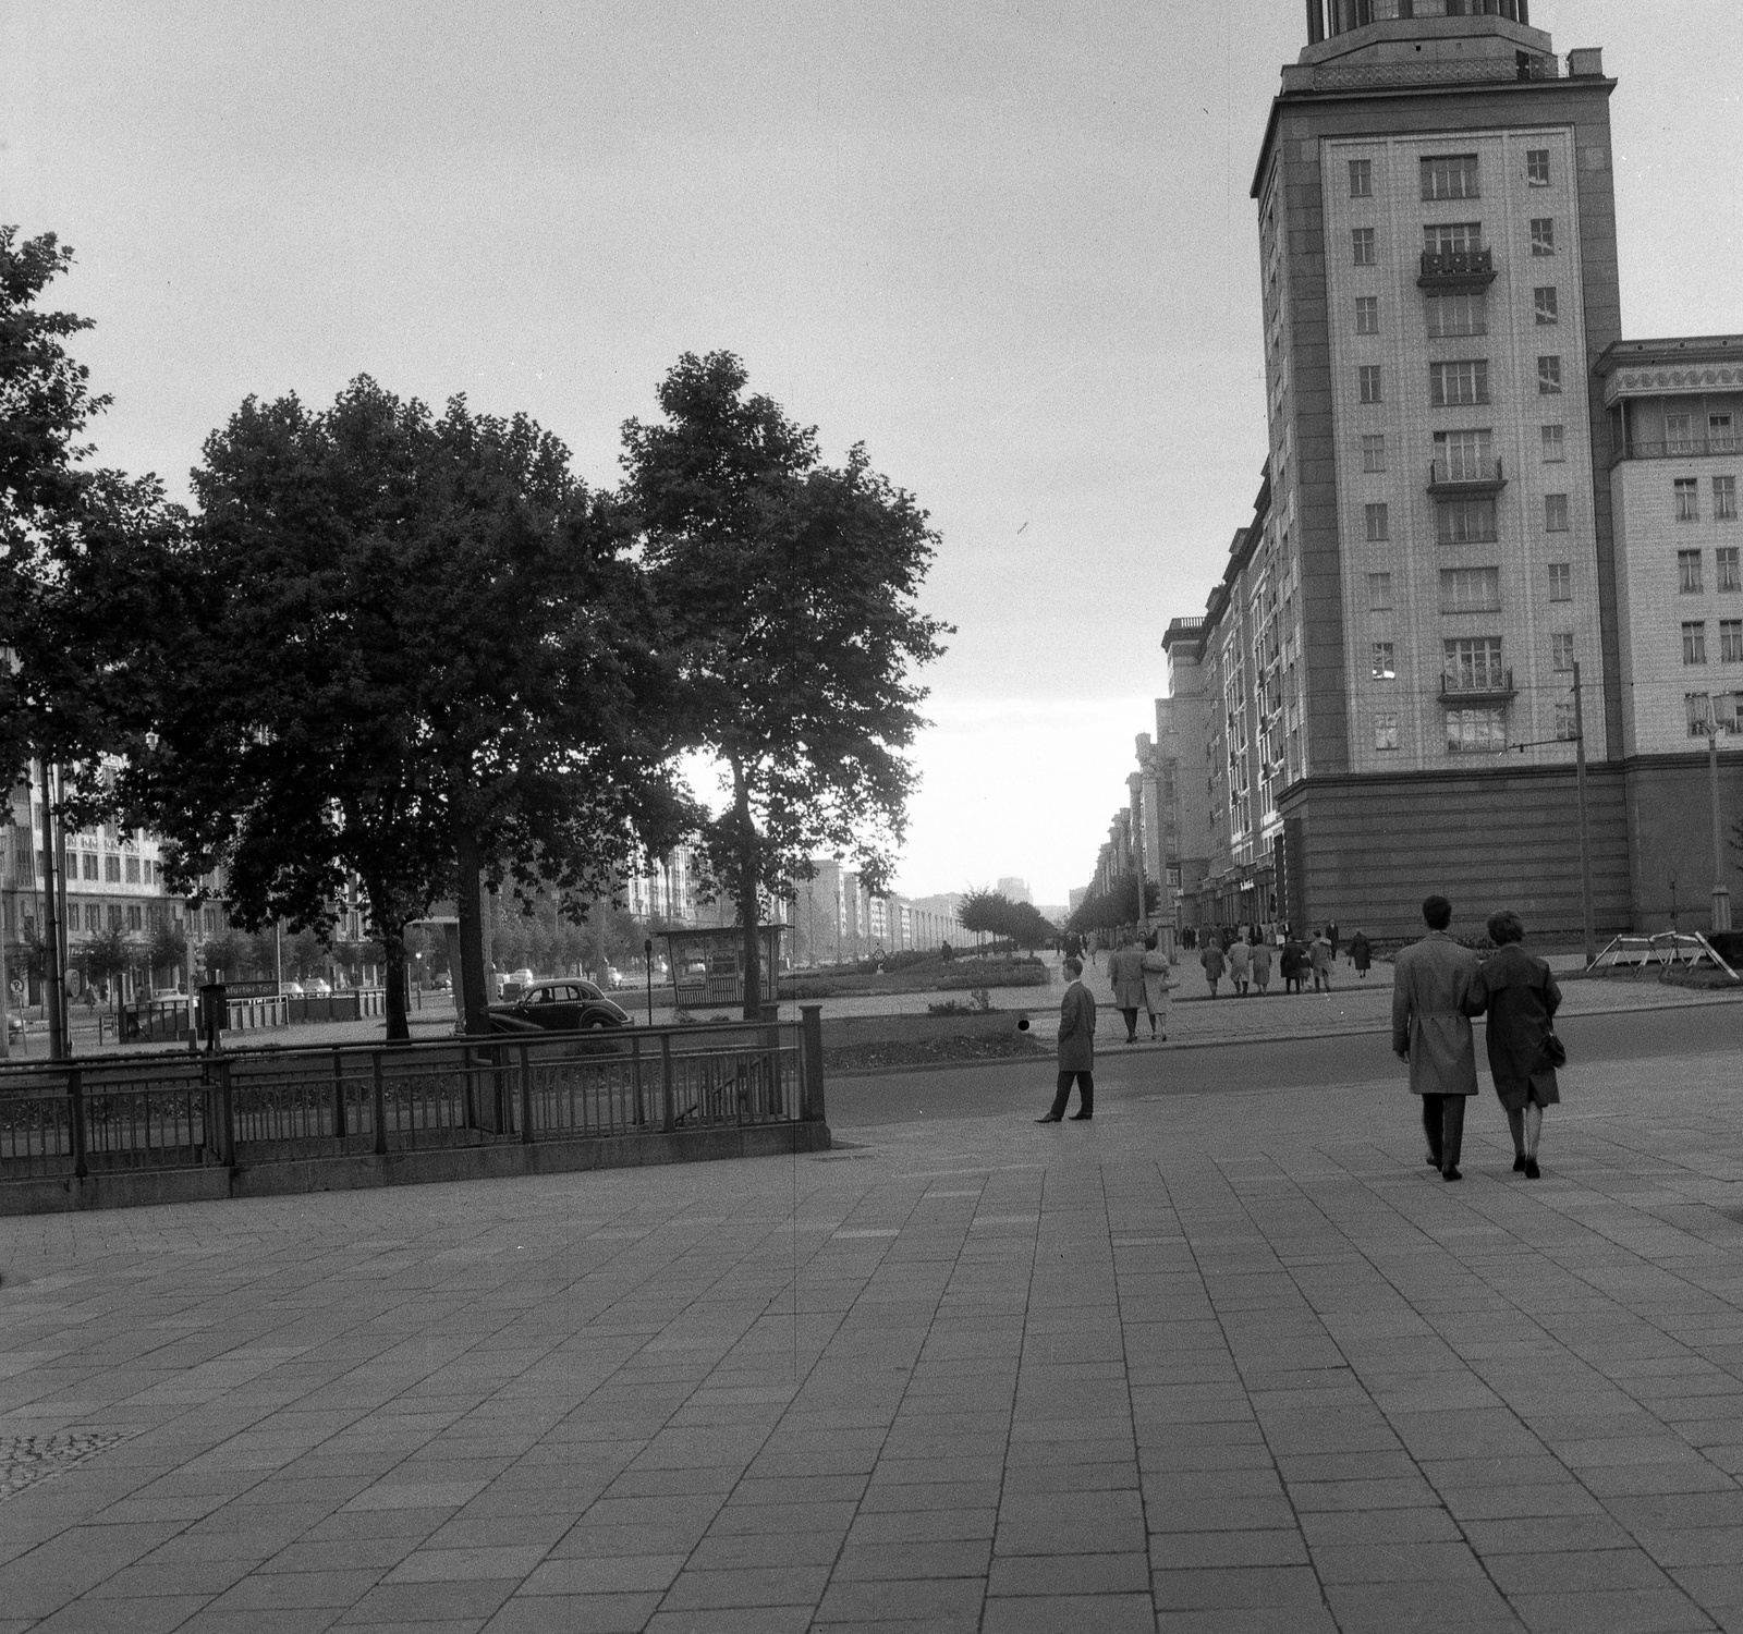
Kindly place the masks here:
<instances>
[{"instance_id":1,"label":"slimmer single-trunk leafy tree beside the kiosk, nearest the open sky","mask_svg":"<svg viewBox=\"0 0 1743 1634\"><path fill-rule=\"evenodd\" d=\"M946 625L917 606L938 535L863 448L821 462L816 432L746 395L730 352L685 354L664 423L624 427L627 498L671 631L683 730L723 765L727 807L699 861L744 927L744 1014L762 1000L765 899L851 854L873 890L906 829L903 754Z\"/></svg>"}]
</instances>

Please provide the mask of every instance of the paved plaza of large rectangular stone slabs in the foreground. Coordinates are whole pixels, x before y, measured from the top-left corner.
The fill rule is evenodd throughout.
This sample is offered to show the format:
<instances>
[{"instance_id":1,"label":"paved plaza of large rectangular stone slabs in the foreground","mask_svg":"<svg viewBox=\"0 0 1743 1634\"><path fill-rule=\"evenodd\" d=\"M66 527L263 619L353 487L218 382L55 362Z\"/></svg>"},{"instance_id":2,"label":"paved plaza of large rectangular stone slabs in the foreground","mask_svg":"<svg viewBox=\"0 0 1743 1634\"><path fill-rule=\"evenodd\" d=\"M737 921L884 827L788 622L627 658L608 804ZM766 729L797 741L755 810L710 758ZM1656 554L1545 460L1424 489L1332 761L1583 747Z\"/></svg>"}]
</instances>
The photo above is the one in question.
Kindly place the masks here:
<instances>
[{"instance_id":1,"label":"paved plaza of large rectangular stone slabs in the foreground","mask_svg":"<svg viewBox=\"0 0 1743 1634\"><path fill-rule=\"evenodd\" d=\"M0 1634L1743 1631L1734 1042L3 1219Z\"/></svg>"}]
</instances>

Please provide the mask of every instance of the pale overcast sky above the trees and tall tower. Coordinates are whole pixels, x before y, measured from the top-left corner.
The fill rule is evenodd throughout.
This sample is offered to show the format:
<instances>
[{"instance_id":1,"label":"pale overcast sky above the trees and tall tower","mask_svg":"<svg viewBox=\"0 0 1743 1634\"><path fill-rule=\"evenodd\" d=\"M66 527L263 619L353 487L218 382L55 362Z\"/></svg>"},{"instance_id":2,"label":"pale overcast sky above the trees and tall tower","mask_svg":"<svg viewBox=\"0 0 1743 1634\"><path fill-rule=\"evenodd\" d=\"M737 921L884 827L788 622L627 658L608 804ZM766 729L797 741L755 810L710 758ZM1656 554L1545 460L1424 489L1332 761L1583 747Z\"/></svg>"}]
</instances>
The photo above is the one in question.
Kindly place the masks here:
<instances>
[{"instance_id":1,"label":"pale overcast sky above the trees and tall tower","mask_svg":"<svg viewBox=\"0 0 1743 1634\"><path fill-rule=\"evenodd\" d=\"M1604 45L1633 336L1743 329L1736 0ZM685 350L931 510L959 625L899 874L1063 902L1265 455L1248 200L1300 0L0 0L0 219L105 463L185 491L248 394L525 409L591 483Z\"/></svg>"}]
</instances>

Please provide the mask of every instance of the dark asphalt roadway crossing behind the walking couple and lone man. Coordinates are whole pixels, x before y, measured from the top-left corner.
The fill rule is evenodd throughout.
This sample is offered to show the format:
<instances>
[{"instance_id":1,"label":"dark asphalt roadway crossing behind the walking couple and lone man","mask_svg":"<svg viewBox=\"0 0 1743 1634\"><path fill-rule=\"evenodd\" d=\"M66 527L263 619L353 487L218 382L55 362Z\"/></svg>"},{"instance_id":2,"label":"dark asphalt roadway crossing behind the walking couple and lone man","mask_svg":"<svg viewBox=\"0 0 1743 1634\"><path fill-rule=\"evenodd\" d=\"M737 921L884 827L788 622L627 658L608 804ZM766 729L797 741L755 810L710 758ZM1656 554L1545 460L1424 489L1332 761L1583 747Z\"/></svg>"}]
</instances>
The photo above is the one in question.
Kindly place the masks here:
<instances>
[{"instance_id":1,"label":"dark asphalt roadway crossing behind the walking couple and lone man","mask_svg":"<svg viewBox=\"0 0 1743 1634\"><path fill-rule=\"evenodd\" d=\"M1743 1089L1743 1003L1623 1014L1563 1016L1556 1031L1567 1043L1562 1094L1572 1101L1586 1066L1624 1061L1734 1056ZM1483 1063L1483 1023L1476 1023L1478 1063ZM1037 1115L1053 1096L1053 1057L931 1068L882 1077L831 1077L828 1117L837 1131L927 1118L1006 1118ZM1403 1068L1384 1031L1354 1036L1271 1038L1255 1043L1098 1045L1096 1106L1171 1094L1218 1090L1318 1089L1328 1085L1396 1084ZM1489 1073L1482 1075L1489 1094ZM1074 1097L1075 1104L1075 1097Z\"/></svg>"}]
</instances>

